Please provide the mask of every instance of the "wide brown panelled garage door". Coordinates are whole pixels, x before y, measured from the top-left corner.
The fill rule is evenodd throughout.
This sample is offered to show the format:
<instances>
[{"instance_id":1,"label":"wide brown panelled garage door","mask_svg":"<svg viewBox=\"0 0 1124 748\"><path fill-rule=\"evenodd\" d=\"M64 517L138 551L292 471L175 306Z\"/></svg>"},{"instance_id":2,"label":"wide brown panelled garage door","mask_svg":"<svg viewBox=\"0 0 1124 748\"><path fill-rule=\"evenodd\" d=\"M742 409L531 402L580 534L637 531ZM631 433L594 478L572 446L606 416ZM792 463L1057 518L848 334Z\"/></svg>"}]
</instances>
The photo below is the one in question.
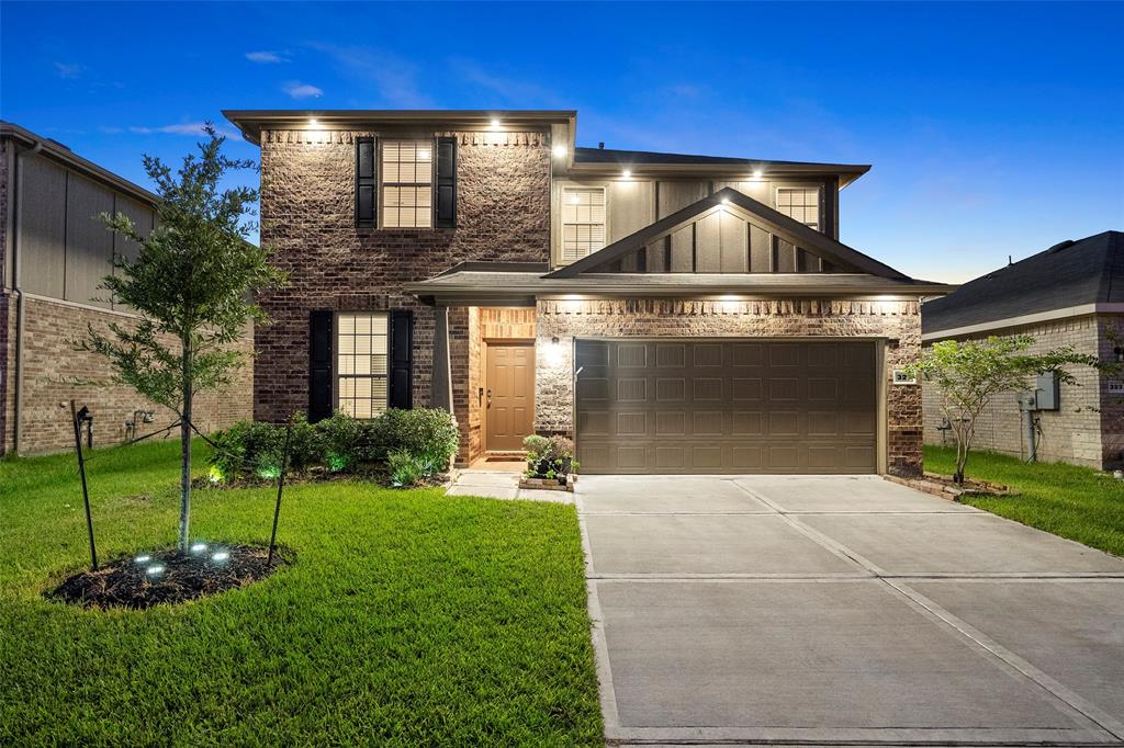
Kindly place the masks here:
<instances>
[{"instance_id":1,"label":"wide brown panelled garage door","mask_svg":"<svg viewBox=\"0 0 1124 748\"><path fill-rule=\"evenodd\" d=\"M582 473L872 473L874 344L578 340Z\"/></svg>"}]
</instances>

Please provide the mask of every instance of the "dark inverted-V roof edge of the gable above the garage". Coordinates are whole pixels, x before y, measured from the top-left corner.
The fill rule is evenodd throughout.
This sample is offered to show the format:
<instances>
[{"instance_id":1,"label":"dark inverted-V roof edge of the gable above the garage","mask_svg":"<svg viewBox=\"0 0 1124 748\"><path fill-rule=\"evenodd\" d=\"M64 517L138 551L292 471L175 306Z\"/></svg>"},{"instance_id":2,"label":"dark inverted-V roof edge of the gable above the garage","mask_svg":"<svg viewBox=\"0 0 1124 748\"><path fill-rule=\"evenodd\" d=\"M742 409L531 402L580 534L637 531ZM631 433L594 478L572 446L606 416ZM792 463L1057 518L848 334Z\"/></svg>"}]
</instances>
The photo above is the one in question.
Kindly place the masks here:
<instances>
[{"instance_id":1,"label":"dark inverted-V roof edge of the gable above the garage","mask_svg":"<svg viewBox=\"0 0 1124 748\"><path fill-rule=\"evenodd\" d=\"M599 249L575 263L554 271L546 277L575 277L583 273L596 272L608 263L620 259L634 252L640 252L659 237L671 234L699 216L727 207L744 211L763 224L770 232L776 234L795 246L814 252L824 259L861 273L869 273L897 281L912 281L905 273L896 271L889 265L862 254L858 249L852 249L830 236L808 228L800 221L789 218L785 213L773 210L763 202L754 200L733 188L723 188L714 194L687 206L682 210L665 216L654 224L614 241L604 249Z\"/></svg>"}]
</instances>

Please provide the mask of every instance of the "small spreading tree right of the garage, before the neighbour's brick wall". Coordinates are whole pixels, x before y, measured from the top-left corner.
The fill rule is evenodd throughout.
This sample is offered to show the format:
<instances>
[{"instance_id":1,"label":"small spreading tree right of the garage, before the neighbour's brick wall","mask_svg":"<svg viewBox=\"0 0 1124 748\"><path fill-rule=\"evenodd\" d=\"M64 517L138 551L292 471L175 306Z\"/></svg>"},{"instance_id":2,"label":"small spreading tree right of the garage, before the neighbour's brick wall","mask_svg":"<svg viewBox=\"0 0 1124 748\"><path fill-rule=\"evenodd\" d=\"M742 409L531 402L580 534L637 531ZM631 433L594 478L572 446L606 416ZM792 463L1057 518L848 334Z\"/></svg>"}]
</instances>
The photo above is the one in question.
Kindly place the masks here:
<instances>
[{"instance_id":1,"label":"small spreading tree right of the garage, before the neighbour's brick wall","mask_svg":"<svg viewBox=\"0 0 1124 748\"><path fill-rule=\"evenodd\" d=\"M957 444L957 472L953 481L964 482L968 453L976 437L976 419L1000 392L1030 389L1027 378L1058 372L1062 382L1076 380L1063 366L1097 366L1096 356L1079 354L1070 346L1044 354L1025 353L1034 345L1028 335L989 337L984 341L942 340L922 353L910 366L941 393L941 414L948 421Z\"/></svg>"}]
</instances>

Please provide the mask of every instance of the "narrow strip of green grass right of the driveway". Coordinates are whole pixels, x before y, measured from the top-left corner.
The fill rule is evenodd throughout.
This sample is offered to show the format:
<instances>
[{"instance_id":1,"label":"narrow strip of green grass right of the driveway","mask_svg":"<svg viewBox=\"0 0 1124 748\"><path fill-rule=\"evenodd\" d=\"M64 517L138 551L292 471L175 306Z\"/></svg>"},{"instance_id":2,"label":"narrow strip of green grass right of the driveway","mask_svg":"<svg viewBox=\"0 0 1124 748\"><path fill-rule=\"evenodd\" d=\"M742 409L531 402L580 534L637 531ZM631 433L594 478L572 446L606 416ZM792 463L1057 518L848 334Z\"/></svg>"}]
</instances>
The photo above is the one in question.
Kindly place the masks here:
<instances>
[{"instance_id":1,"label":"narrow strip of green grass right of the driveway","mask_svg":"<svg viewBox=\"0 0 1124 748\"><path fill-rule=\"evenodd\" d=\"M953 460L952 448L925 447L927 471L951 474ZM984 451L969 455L967 474L1017 489L1019 495L964 503L1124 556L1124 481L1088 467L1026 464Z\"/></svg>"}]
</instances>

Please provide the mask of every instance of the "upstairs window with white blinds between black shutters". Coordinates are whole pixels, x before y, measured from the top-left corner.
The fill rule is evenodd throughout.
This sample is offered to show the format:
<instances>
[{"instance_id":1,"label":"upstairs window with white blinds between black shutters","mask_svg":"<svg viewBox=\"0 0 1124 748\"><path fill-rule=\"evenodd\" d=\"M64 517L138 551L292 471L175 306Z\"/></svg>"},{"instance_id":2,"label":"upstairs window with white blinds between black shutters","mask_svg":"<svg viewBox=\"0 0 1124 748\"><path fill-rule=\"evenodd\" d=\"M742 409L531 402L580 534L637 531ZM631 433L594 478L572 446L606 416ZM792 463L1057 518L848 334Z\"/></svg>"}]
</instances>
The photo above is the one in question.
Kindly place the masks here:
<instances>
[{"instance_id":1,"label":"upstairs window with white blinds between black shutters","mask_svg":"<svg viewBox=\"0 0 1124 748\"><path fill-rule=\"evenodd\" d=\"M433 142L382 140L382 225L433 226Z\"/></svg>"}]
</instances>

